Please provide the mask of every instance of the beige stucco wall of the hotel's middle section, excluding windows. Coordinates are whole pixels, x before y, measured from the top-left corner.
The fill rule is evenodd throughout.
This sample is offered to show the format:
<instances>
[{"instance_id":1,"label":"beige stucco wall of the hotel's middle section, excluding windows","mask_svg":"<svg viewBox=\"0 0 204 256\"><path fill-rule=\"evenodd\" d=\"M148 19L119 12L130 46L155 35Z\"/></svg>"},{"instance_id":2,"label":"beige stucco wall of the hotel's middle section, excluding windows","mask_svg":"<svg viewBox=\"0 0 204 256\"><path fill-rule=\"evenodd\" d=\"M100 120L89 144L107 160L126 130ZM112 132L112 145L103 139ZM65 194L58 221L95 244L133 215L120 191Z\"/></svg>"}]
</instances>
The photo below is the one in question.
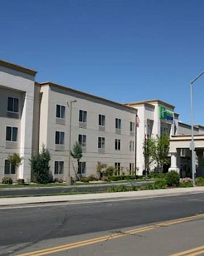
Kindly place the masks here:
<instances>
[{"instance_id":1,"label":"beige stucco wall of the hotel's middle section, excluding windows","mask_svg":"<svg viewBox=\"0 0 204 256\"><path fill-rule=\"evenodd\" d=\"M86 175L96 174L98 161L114 166L119 162L124 170L129 169L129 163L135 163L135 151L129 151L129 141L135 141L135 136L130 136L129 122L135 122L135 109L128 109L115 104L108 104L103 100L93 99L69 92L54 86L41 87L42 98L40 108L40 145L44 143L50 151L50 170L54 175L54 161L64 161L64 178L68 172L69 154L69 115L71 100L77 100L72 104L71 118L71 148L78 141L78 134L87 136L87 150L83 153L81 161L86 162ZM65 106L65 125L56 124L56 104ZM87 111L87 128L79 128L79 110ZM98 129L98 115L106 116L105 132ZM115 134L115 118L122 120L122 133ZM55 131L64 131L64 150L55 150ZM105 154L98 154L98 137L105 137ZM115 139L121 140L121 150L115 150ZM73 166L77 166L75 159L71 157L71 175L74 176Z\"/></svg>"}]
</instances>

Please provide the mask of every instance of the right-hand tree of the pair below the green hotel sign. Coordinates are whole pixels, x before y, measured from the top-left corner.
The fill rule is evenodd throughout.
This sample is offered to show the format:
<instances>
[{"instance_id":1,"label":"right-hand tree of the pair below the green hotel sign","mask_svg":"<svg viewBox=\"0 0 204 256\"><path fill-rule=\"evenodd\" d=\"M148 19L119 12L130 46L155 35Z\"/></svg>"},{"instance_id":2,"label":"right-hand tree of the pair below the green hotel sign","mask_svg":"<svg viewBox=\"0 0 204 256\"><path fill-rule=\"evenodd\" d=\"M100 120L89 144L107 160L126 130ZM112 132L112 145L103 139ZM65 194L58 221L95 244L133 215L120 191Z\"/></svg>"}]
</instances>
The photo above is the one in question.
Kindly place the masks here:
<instances>
[{"instance_id":1,"label":"right-hand tree of the pair below the green hotel sign","mask_svg":"<svg viewBox=\"0 0 204 256\"><path fill-rule=\"evenodd\" d=\"M159 166L159 172L163 172L164 164L169 164L170 138L167 133L161 134L156 139L156 161Z\"/></svg>"}]
</instances>

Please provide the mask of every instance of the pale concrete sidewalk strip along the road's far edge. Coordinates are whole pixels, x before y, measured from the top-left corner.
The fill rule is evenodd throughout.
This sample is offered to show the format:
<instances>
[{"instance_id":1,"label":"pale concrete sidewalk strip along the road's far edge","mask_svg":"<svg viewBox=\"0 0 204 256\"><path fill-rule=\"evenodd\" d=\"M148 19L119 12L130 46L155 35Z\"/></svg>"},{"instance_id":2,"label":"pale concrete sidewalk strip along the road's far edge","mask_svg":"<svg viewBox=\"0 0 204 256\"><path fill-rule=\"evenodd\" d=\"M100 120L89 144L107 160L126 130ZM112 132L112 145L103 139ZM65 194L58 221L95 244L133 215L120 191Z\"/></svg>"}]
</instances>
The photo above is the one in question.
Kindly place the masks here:
<instances>
[{"instance_id":1,"label":"pale concrete sidewalk strip along the road's far edge","mask_svg":"<svg viewBox=\"0 0 204 256\"><path fill-rule=\"evenodd\" d=\"M54 202L85 202L91 200L114 200L119 198L151 198L158 196L185 195L191 193L204 193L204 187L195 188L171 188L155 189L143 191L128 191L117 193L94 193L79 195L59 195L59 196L31 196L17 198L0 198L0 206L41 204Z\"/></svg>"}]
</instances>

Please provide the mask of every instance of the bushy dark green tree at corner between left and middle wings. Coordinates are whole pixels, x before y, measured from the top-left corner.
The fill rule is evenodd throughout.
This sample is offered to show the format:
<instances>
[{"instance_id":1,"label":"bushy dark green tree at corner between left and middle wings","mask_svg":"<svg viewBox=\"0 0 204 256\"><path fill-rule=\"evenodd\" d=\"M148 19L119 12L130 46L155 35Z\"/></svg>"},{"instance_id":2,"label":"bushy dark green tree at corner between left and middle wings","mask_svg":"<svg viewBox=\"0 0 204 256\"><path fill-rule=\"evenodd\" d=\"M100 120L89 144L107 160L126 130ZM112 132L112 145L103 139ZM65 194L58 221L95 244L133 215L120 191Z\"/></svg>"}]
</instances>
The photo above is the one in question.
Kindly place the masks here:
<instances>
[{"instance_id":1,"label":"bushy dark green tree at corner between left and middle wings","mask_svg":"<svg viewBox=\"0 0 204 256\"><path fill-rule=\"evenodd\" d=\"M50 181L49 161L50 152L43 145L41 152L33 155L30 159L35 182L45 184Z\"/></svg>"}]
</instances>

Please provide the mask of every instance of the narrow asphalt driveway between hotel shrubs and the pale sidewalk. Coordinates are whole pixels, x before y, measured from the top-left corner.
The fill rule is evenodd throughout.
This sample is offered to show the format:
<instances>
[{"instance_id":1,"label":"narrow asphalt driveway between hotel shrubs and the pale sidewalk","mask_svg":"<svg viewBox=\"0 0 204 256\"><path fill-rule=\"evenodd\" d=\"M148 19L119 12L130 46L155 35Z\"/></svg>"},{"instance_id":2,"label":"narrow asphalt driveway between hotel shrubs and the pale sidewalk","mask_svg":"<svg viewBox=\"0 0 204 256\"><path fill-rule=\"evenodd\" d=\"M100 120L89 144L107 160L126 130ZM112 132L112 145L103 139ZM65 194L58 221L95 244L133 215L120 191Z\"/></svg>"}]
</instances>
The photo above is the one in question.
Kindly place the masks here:
<instances>
[{"instance_id":1,"label":"narrow asphalt driveway between hotel shrubs and the pale sidewalk","mask_svg":"<svg viewBox=\"0 0 204 256\"><path fill-rule=\"evenodd\" d=\"M36 188L9 188L0 189L0 196L24 196L24 195L56 195L68 192L100 192L115 186L145 186L153 184L152 181L145 182L127 182L120 184L94 184L94 185L80 185L80 186L59 186L59 187L36 187Z\"/></svg>"}]
</instances>

